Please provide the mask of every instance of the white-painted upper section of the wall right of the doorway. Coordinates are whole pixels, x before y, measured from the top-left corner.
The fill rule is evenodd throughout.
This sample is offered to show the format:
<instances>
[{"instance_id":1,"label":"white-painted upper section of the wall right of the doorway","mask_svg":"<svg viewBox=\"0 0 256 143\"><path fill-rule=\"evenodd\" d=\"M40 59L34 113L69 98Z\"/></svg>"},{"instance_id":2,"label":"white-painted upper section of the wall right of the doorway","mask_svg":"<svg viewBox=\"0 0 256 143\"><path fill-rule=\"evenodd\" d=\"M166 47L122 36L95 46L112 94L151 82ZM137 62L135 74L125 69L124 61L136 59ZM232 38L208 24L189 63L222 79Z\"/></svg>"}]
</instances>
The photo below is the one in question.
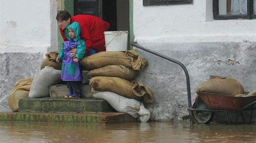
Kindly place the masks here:
<instances>
[{"instance_id":1,"label":"white-painted upper section of the wall right of the doorway","mask_svg":"<svg viewBox=\"0 0 256 143\"><path fill-rule=\"evenodd\" d=\"M143 39L147 42L256 40L255 19L213 20L212 0L194 0L193 4L169 6L143 6L142 0L133 2L133 27L137 40Z\"/></svg>"}]
</instances>

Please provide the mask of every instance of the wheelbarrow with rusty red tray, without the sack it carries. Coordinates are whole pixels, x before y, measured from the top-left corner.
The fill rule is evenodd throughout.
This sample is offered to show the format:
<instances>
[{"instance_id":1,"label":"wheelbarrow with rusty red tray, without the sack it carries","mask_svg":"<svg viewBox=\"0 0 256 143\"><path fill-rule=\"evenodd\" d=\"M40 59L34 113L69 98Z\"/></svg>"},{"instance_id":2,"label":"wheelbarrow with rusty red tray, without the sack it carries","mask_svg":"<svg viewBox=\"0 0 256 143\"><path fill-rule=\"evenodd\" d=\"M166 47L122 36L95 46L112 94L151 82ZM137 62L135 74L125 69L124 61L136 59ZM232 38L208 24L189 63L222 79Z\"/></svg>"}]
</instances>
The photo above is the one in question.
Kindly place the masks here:
<instances>
[{"instance_id":1,"label":"wheelbarrow with rusty red tray, without the sack it carries","mask_svg":"<svg viewBox=\"0 0 256 143\"><path fill-rule=\"evenodd\" d=\"M236 113L236 120L234 123L236 125L239 114L241 114L243 122L245 122L242 113L244 110L251 111L249 123L252 121L252 113L253 110L256 109L256 107L254 107L256 104L256 96L234 97L201 92L197 92L197 95L199 97L188 110L192 111L193 119L199 124L210 123L213 120L215 112L226 112L228 123L230 124L228 112L234 112Z\"/></svg>"}]
</instances>

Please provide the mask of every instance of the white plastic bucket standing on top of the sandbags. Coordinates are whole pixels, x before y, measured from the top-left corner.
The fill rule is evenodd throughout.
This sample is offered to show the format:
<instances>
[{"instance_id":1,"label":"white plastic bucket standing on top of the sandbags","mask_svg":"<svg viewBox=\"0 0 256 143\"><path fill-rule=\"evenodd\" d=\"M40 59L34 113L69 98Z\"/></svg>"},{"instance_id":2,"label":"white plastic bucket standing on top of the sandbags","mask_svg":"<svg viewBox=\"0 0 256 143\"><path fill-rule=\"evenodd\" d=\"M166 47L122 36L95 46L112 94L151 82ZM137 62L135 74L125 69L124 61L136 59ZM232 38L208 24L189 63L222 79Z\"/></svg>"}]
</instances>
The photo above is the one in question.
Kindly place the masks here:
<instances>
[{"instance_id":1,"label":"white plastic bucket standing on top of the sandbags","mask_svg":"<svg viewBox=\"0 0 256 143\"><path fill-rule=\"evenodd\" d=\"M106 51L126 51L128 31L107 31L105 34Z\"/></svg>"}]
</instances>

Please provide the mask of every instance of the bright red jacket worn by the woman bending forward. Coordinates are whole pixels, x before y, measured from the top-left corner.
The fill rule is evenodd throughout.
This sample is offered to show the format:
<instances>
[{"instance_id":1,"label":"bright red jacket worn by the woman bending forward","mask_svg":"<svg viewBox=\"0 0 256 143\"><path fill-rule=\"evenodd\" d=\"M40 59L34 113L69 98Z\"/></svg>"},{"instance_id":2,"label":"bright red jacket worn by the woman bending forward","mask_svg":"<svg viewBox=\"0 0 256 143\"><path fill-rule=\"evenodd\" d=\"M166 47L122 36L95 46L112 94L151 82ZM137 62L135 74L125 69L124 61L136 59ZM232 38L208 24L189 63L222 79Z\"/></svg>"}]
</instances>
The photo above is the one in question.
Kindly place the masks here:
<instances>
[{"instance_id":1,"label":"bright red jacket worn by the woman bending forward","mask_svg":"<svg viewBox=\"0 0 256 143\"><path fill-rule=\"evenodd\" d=\"M80 37L85 41L85 53L87 53L91 47L100 51L106 51L104 32L108 31L109 23L92 15L75 15L71 17L70 24L72 22L78 22L81 27ZM61 29L61 27L59 27L59 29L63 40L67 41L65 29Z\"/></svg>"}]
</instances>

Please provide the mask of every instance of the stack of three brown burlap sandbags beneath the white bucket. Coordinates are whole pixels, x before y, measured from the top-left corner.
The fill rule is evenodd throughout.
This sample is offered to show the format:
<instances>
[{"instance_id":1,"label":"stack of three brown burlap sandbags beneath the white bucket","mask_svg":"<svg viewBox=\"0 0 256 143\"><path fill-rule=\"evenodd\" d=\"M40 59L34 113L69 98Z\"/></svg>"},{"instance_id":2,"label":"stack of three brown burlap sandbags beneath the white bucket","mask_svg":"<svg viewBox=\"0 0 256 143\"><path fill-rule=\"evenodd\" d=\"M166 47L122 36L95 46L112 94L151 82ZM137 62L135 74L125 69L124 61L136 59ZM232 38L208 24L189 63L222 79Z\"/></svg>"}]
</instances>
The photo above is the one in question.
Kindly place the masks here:
<instances>
[{"instance_id":1,"label":"stack of three brown burlap sandbags beneath the white bucket","mask_svg":"<svg viewBox=\"0 0 256 143\"><path fill-rule=\"evenodd\" d=\"M137 50L126 52L100 52L84 57L80 63L89 71L90 86L96 91L110 91L129 99L152 103L152 90L133 81L137 72L148 67Z\"/></svg>"}]
</instances>

